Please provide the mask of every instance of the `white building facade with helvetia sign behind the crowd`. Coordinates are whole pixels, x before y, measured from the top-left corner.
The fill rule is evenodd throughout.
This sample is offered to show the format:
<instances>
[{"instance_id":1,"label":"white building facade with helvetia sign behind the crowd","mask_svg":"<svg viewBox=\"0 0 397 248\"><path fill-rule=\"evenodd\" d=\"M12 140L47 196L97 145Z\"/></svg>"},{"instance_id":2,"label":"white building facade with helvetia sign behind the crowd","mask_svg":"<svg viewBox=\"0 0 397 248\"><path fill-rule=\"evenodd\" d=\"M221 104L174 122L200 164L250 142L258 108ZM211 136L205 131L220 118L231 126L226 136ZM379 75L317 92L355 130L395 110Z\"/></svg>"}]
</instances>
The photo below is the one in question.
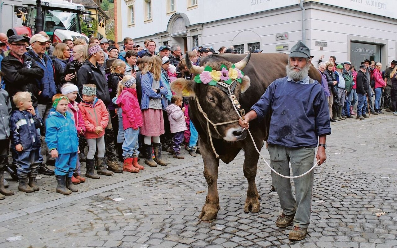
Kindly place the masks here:
<instances>
[{"instance_id":1,"label":"white building facade with helvetia sign behind the crowd","mask_svg":"<svg viewBox=\"0 0 397 248\"><path fill-rule=\"evenodd\" d=\"M121 34L141 46L233 45L289 53L299 40L313 60L364 59L387 64L396 58L397 0L120 0ZM120 30L120 26L119 26ZM122 38L119 44L122 46Z\"/></svg>"}]
</instances>

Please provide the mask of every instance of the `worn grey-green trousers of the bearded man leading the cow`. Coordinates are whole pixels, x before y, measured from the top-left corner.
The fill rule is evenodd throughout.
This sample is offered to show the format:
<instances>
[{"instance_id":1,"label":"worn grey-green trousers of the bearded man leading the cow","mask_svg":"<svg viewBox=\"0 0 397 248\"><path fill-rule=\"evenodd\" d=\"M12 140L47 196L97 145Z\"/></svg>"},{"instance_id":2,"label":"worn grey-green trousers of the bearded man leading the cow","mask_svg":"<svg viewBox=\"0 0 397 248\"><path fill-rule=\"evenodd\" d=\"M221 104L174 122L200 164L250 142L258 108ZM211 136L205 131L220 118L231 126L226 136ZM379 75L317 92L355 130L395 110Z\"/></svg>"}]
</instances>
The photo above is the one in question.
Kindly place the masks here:
<instances>
[{"instance_id":1,"label":"worn grey-green trousers of the bearded man leading the cow","mask_svg":"<svg viewBox=\"0 0 397 248\"><path fill-rule=\"evenodd\" d=\"M314 147L288 148L279 145L268 145L270 166L278 173L289 176L289 162L291 162L294 176L308 171L314 164ZM294 226L307 228L310 223L312 209L312 189L314 172L295 178L295 196L292 192L291 180L280 177L272 172L272 184L280 199L280 206L285 215L295 213Z\"/></svg>"}]
</instances>

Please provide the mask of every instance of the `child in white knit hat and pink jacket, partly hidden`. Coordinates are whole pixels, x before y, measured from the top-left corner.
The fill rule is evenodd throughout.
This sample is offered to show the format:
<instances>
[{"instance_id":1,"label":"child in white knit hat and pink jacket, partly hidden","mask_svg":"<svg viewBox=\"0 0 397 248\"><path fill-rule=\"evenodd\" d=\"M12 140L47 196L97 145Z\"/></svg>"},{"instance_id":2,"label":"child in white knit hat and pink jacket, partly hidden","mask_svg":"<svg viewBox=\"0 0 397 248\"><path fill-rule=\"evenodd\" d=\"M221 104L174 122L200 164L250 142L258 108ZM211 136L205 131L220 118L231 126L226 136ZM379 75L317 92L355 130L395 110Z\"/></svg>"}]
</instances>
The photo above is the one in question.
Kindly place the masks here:
<instances>
[{"instance_id":1,"label":"child in white knit hat and pink jacket, partly hidden","mask_svg":"<svg viewBox=\"0 0 397 248\"><path fill-rule=\"evenodd\" d=\"M76 85L71 83L66 83L62 85L61 92L64 94L67 99L69 99L69 103L67 104L67 112L72 114L72 119L75 122L75 126L77 129L77 136L84 135L85 133L85 125L83 121L83 116L81 116L81 112L79 110L79 104L75 101L77 98L77 92L79 92L79 88ZM80 161L77 160L76 169L72 176L72 183L79 184L84 183L85 178L81 177L80 172Z\"/></svg>"}]
</instances>

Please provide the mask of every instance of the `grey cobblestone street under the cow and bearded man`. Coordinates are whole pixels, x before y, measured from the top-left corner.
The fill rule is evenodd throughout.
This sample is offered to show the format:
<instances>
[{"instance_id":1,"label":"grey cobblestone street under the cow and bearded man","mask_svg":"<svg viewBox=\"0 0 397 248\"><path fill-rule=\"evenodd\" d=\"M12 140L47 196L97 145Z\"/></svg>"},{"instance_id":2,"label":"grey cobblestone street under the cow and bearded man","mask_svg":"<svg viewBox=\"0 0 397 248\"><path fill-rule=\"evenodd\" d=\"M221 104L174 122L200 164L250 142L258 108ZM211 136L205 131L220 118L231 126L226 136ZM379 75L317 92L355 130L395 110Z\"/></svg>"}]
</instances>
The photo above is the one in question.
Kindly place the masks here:
<instances>
[{"instance_id":1,"label":"grey cobblestone street under the cow and bearded man","mask_svg":"<svg viewBox=\"0 0 397 248\"><path fill-rule=\"evenodd\" d=\"M207 193L202 160L184 151L185 160L166 155L168 167L87 179L70 196L55 193L54 177L41 176L40 191L29 194L10 181L17 193L0 201L0 247L397 248L396 119L332 123L328 162L315 171L311 224L300 242L288 240L291 227L274 223L279 200L263 161L260 211L243 212L243 152L220 165L217 219L199 221ZM268 159L266 149L262 154Z\"/></svg>"}]
</instances>

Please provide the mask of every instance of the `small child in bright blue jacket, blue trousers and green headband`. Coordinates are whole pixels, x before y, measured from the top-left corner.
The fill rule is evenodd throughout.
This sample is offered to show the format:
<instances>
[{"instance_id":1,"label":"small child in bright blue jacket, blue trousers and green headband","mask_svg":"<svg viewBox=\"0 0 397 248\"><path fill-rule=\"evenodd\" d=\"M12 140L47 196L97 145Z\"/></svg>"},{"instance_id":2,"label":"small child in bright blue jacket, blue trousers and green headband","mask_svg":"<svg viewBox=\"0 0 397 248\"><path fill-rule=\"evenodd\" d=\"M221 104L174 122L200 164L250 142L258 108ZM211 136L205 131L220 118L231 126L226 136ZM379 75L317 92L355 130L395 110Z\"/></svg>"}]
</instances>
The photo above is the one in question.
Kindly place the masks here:
<instances>
[{"instance_id":1,"label":"small child in bright blue jacket, blue trousers and green headband","mask_svg":"<svg viewBox=\"0 0 397 248\"><path fill-rule=\"evenodd\" d=\"M52 109L46 120L46 142L55 161L56 192L71 194L78 189L73 186L72 176L76 169L79 138L72 114L67 112L67 96L56 94Z\"/></svg>"}]
</instances>

